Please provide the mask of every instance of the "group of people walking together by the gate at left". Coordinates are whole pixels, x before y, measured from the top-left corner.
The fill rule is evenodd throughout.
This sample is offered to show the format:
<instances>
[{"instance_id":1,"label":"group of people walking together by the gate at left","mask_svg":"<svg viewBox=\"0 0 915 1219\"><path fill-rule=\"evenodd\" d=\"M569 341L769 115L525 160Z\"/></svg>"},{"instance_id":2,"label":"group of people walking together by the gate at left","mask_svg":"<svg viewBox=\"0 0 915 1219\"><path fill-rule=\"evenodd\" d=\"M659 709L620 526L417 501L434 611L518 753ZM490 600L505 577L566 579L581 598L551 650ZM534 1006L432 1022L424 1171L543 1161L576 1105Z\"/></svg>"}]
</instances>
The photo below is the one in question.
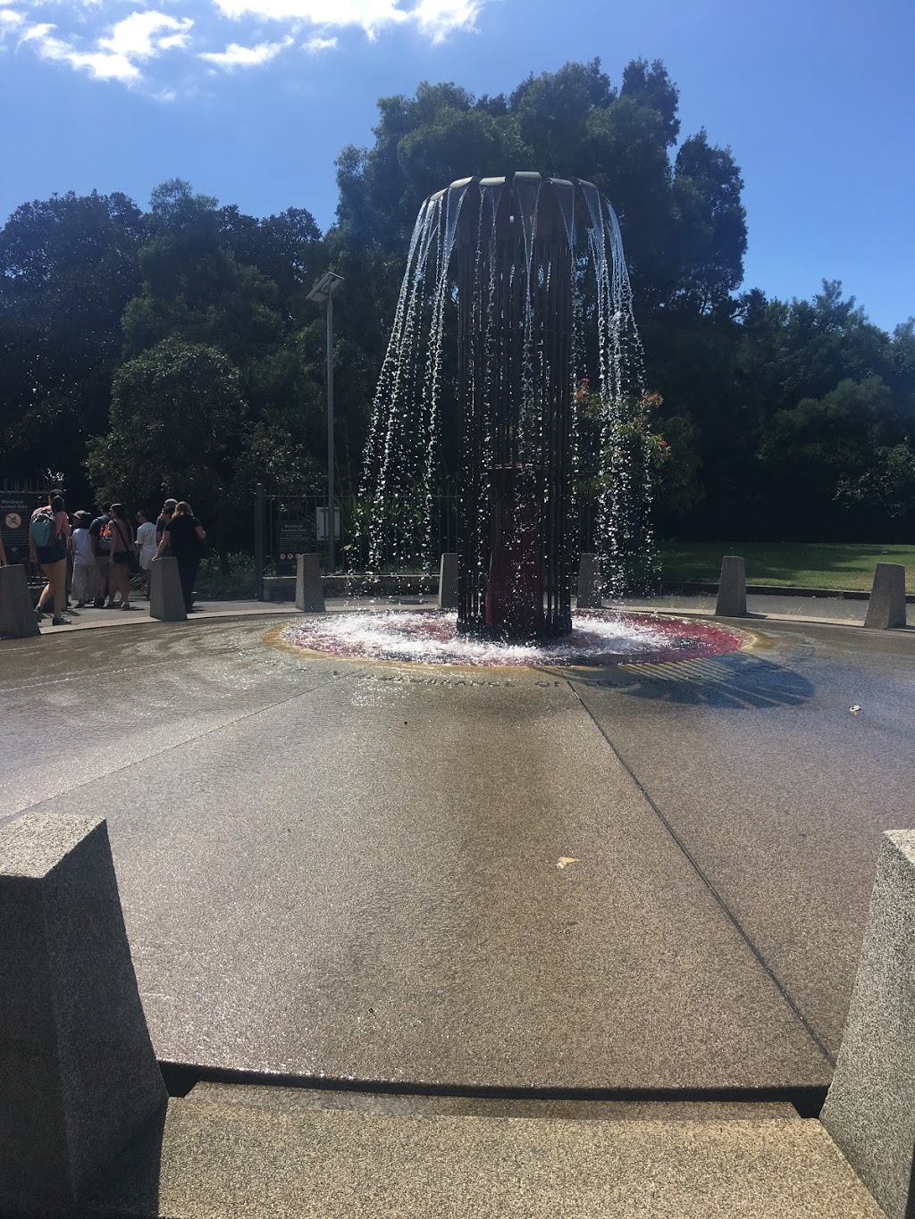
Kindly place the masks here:
<instances>
[{"instance_id":1,"label":"group of people walking together by the gate at left","mask_svg":"<svg viewBox=\"0 0 915 1219\"><path fill-rule=\"evenodd\" d=\"M68 513L63 495L51 491L32 513L29 558L48 583L35 607L40 622L51 607L51 624L68 625L65 608L132 610L131 596L149 599L155 560L171 555L178 562L184 607L194 607L194 581L206 533L185 500L166 500L155 523L138 511L134 524L123 503L105 503L99 516ZM0 545L0 564L6 556ZM134 590L133 575L143 575Z\"/></svg>"}]
</instances>

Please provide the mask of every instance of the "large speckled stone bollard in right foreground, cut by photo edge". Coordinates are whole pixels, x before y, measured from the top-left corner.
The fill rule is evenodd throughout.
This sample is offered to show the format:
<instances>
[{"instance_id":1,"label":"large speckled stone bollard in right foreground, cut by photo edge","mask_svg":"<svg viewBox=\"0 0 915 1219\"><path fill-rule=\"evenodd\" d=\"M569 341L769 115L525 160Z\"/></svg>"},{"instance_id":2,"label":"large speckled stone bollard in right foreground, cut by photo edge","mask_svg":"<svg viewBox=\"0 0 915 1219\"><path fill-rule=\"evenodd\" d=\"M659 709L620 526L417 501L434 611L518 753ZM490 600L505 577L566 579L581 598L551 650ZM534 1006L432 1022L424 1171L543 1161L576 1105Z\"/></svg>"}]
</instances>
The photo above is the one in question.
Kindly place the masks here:
<instances>
[{"instance_id":1,"label":"large speckled stone bollard in right foreground, cut by photo edge","mask_svg":"<svg viewBox=\"0 0 915 1219\"><path fill-rule=\"evenodd\" d=\"M915 1207L915 830L883 835L852 1004L820 1120L889 1219L909 1215Z\"/></svg>"}]
</instances>

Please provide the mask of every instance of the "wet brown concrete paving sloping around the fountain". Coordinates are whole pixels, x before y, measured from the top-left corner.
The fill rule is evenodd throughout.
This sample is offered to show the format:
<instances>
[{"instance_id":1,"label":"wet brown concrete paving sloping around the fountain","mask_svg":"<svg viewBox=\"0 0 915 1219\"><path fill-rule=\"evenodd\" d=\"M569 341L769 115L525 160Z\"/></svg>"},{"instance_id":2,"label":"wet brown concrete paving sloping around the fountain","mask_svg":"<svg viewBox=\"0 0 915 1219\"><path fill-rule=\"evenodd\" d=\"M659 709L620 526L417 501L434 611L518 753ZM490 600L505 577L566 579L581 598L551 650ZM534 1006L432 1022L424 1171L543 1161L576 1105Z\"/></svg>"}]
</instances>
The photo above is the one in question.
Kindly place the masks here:
<instances>
[{"instance_id":1,"label":"wet brown concrete paving sloping around the fountain","mask_svg":"<svg viewBox=\"0 0 915 1219\"><path fill-rule=\"evenodd\" d=\"M880 834L915 825L909 633L506 673L303 658L270 627L0 650L1 814L109 819L160 1058L828 1081Z\"/></svg>"}]
</instances>

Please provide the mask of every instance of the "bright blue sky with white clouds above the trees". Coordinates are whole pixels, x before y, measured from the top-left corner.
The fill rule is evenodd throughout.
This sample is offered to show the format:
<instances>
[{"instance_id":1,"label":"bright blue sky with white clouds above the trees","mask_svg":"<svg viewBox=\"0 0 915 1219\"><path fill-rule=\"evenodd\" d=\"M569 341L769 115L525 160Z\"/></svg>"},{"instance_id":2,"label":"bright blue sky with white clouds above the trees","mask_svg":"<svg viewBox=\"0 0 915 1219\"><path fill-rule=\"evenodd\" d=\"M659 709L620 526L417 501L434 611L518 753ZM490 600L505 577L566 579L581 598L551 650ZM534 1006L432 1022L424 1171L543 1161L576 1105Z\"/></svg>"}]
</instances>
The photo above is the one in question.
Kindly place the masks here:
<instances>
[{"instance_id":1,"label":"bright blue sky with white clouds above the trees","mask_svg":"<svg viewBox=\"0 0 915 1219\"><path fill-rule=\"evenodd\" d=\"M0 219L55 190L145 206L182 177L326 228L377 98L508 91L595 55L617 84L662 60L681 135L731 145L745 286L810 297L827 277L887 329L915 313L911 0L0 0ZM538 167L490 172L511 168Z\"/></svg>"}]
</instances>

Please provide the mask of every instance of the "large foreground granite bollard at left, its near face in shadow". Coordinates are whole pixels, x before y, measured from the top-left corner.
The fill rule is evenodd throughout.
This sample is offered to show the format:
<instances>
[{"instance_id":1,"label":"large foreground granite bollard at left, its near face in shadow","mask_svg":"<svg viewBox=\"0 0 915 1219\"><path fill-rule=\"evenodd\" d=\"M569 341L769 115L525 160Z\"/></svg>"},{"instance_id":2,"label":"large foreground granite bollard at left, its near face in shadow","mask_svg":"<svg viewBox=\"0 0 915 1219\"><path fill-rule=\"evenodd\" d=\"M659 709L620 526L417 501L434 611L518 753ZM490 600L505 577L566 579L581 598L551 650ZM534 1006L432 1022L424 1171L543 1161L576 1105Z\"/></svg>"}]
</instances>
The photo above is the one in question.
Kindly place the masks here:
<instances>
[{"instance_id":1,"label":"large foreground granite bollard at left, its near face in shadow","mask_svg":"<svg viewBox=\"0 0 915 1219\"><path fill-rule=\"evenodd\" d=\"M0 830L0 1213L62 1214L167 1104L105 822Z\"/></svg>"}]
</instances>

